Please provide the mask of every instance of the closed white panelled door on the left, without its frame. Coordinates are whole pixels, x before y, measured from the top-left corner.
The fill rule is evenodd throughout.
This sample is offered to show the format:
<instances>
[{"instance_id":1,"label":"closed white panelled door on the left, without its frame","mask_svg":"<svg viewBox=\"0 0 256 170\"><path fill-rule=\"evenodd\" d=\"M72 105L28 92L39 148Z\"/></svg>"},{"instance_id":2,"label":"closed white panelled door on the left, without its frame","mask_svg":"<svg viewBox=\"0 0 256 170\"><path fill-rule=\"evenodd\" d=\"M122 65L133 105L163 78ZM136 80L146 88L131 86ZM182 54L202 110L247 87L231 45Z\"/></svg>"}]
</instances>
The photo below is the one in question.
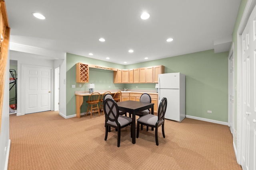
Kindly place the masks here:
<instances>
[{"instance_id":1,"label":"closed white panelled door on the left, without its frame","mask_svg":"<svg viewBox=\"0 0 256 170\"><path fill-rule=\"evenodd\" d=\"M51 69L25 66L25 114L51 109Z\"/></svg>"}]
</instances>

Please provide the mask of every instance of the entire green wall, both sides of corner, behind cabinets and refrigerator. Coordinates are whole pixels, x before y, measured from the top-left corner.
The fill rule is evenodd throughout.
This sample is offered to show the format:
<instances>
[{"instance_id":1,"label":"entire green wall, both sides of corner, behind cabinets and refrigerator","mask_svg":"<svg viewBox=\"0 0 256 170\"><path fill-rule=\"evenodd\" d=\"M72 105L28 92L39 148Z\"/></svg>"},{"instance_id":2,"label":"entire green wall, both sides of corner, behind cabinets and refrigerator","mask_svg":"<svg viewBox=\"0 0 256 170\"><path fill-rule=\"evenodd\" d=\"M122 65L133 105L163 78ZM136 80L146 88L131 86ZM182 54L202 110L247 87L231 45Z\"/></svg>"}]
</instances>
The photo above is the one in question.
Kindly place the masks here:
<instances>
[{"instance_id":1,"label":"entire green wall, both sides of corner, behind cabinets and refrigerator","mask_svg":"<svg viewBox=\"0 0 256 170\"><path fill-rule=\"evenodd\" d=\"M181 72L186 75L186 115L228 122L228 52L215 54L214 50L208 50L126 66L67 54L67 115L76 113L75 91L88 90L88 83L82 83L82 88L71 88L72 84L76 87L80 84L76 83L75 76L78 62L121 69L163 65L165 73ZM114 84L112 71L96 68L89 70L89 83L95 84L95 90L124 87L155 90L155 84ZM81 112L85 112L86 108L83 104ZM207 110L212 113L207 113Z\"/></svg>"}]
</instances>

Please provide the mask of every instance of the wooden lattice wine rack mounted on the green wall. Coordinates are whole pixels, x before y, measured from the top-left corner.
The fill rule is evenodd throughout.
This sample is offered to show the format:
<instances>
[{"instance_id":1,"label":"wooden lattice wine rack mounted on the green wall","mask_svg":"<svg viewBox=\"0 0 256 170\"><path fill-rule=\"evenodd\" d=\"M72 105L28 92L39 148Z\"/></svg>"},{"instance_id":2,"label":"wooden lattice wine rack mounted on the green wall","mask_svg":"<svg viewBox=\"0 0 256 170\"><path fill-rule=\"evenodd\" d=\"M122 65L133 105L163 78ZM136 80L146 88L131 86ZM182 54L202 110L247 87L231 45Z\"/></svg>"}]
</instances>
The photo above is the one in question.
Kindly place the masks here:
<instances>
[{"instance_id":1,"label":"wooden lattice wine rack mounted on the green wall","mask_svg":"<svg viewBox=\"0 0 256 170\"><path fill-rule=\"evenodd\" d=\"M89 66L88 64L76 63L76 82L89 82Z\"/></svg>"}]
</instances>

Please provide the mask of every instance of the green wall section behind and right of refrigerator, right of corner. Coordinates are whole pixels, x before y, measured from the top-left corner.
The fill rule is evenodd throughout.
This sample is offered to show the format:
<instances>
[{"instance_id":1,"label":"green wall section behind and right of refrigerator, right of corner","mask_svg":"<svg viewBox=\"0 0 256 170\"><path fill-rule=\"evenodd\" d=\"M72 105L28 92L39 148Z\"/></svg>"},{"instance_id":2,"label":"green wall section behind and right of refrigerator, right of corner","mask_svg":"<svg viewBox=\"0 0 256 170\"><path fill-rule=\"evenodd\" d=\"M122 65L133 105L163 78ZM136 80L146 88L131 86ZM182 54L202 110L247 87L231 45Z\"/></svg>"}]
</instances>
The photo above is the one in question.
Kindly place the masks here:
<instances>
[{"instance_id":1,"label":"green wall section behind and right of refrigerator, right of corner","mask_svg":"<svg viewBox=\"0 0 256 170\"><path fill-rule=\"evenodd\" d=\"M164 65L165 73L186 75L186 115L228 122L228 52L208 50L131 64L126 69L156 65ZM126 87L134 89L134 84Z\"/></svg>"}]
</instances>

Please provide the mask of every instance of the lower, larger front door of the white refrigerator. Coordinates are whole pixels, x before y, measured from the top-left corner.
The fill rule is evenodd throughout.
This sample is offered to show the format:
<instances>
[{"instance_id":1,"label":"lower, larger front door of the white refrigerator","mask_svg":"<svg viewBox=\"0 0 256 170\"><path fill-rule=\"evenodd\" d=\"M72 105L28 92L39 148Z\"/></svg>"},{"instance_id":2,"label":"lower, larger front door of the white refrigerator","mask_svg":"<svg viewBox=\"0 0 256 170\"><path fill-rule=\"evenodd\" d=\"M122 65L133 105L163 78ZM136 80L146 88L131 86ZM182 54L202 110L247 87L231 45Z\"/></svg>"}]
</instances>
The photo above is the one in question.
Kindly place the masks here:
<instances>
[{"instance_id":1,"label":"lower, larger front door of the white refrigerator","mask_svg":"<svg viewBox=\"0 0 256 170\"><path fill-rule=\"evenodd\" d=\"M164 118L181 121L180 120L180 90L179 89L159 89L160 95L158 103L162 98L167 98L167 108Z\"/></svg>"}]
</instances>

